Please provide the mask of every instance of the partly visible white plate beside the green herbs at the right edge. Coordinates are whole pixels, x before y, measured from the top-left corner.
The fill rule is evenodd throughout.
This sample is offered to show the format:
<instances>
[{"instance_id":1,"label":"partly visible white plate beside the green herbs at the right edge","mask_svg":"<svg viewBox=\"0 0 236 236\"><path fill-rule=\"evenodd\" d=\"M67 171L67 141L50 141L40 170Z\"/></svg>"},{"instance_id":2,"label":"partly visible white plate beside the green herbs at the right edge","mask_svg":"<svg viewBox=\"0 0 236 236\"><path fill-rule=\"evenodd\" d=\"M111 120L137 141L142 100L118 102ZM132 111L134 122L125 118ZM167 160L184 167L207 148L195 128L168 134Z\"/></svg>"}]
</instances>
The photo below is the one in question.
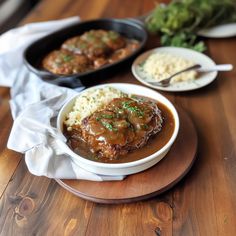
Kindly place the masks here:
<instances>
[{"instance_id":1,"label":"partly visible white plate beside the green herbs at the right edge","mask_svg":"<svg viewBox=\"0 0 236 236\"><path fill-rule=\"evenodd\" d=\"M236 23L229 23L202 29L197 33L207 38L228 38L236 36Z\"/></svg>"}]
</instances>

